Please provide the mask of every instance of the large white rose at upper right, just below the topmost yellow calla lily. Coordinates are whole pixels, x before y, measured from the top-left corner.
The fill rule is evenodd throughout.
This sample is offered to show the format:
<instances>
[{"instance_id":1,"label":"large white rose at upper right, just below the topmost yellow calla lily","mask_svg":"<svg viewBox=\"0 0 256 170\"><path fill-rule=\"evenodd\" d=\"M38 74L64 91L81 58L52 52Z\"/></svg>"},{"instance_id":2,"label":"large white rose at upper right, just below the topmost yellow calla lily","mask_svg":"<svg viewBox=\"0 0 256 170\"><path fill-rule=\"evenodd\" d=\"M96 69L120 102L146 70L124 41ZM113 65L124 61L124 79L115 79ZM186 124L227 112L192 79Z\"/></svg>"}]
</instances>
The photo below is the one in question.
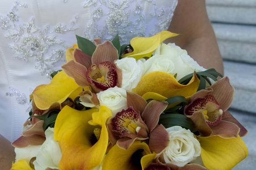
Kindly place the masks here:
<instances>
[{"instance_id":1,"label":"large white rose at upper right, just below the topmost yellow calla lily","mask_svg":"<svg viewBox=\"0 0 256 170\"><path fill-rule=\"evenodd\" d=\"M182 50L174 43L160 44L154 55L144 62L144 74L152 71L164 71L175 75L179 80L185 75L196 71L204 71L205 68L197 64L186 50Z\"/></svg>"}]
</instances>

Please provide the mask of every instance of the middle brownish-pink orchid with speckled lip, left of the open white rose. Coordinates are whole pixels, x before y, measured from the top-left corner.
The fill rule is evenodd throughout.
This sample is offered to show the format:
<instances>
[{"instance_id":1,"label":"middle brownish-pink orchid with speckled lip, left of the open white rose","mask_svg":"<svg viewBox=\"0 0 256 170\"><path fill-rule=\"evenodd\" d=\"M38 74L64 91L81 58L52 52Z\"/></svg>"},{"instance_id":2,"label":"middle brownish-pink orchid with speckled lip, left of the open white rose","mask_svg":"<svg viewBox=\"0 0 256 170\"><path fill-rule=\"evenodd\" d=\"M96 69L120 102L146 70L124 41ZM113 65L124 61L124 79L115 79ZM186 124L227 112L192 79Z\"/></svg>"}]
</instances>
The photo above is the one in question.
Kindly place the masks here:
<instances>
[{"instance_id":1,"label":"middle brownish-pink orchid with speckled lip, left of the open white rose","mask_svg":"<svg viewBox=\"0 0 256 170\"><path fill-rule=\"evenodd\" d=\"M148 139L150 133L158 129L159 116L166 109L168 103L158 100L151 100L147 103L141 96L127 91L127 105L128 109L118 112L108 124L111 143L116 143L123 149L128 149L136 140ZM161 130L166 132L165 129ZM161 130L158 135L162 134ZM167 132L164 134L167 137ZM168 140L166 137L162 137L163 141L164 139ZM161 145L160 147L165 148L166 146Z\"/></svg>"}]
</instances>

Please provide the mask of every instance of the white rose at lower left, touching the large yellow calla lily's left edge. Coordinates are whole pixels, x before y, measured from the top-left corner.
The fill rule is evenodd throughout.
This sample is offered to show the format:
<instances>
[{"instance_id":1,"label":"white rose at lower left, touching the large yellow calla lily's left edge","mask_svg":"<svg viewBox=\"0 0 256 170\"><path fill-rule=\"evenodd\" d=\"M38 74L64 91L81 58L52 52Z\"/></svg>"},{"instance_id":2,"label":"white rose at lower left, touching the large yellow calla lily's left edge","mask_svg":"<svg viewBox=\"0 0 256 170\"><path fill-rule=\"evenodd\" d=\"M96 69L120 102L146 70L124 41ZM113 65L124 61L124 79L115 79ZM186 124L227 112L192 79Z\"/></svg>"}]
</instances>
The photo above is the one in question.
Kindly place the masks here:
<instances>
[{"instance_id":1,"label":"white rose at lower left, touching the large yellow calla lily's left edge","mask_svg":"<svg viewBox=\"0 0 256 170\"><path fill-rule=\"evenodd\" d=\"M45 170L47 167L58 169L62 157L60 145L53 139L54 128L45 131L46 140L40 147L36 160L34 161L35 170Z\"/></svg>"}]
</instances>

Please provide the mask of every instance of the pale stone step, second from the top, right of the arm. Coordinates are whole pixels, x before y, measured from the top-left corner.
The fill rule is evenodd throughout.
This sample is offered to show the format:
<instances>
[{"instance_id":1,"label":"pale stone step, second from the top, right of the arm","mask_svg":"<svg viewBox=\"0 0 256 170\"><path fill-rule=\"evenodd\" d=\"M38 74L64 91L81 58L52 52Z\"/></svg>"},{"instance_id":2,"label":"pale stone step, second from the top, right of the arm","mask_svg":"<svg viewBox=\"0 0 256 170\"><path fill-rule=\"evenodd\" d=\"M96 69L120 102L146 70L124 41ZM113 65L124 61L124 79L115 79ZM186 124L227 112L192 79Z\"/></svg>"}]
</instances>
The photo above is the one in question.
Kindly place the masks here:
<instances>
[{"instance_id":1,"label":"pale stone step, second from the top, right of the arm","mask_svg":"<svg viewBox=\"0 0 256 170\"><path fill-rule=\"evenodd\" d=\"M224 59L256 63L256 26L219 23L212 25Z\"/></svg>"}]
</instances>

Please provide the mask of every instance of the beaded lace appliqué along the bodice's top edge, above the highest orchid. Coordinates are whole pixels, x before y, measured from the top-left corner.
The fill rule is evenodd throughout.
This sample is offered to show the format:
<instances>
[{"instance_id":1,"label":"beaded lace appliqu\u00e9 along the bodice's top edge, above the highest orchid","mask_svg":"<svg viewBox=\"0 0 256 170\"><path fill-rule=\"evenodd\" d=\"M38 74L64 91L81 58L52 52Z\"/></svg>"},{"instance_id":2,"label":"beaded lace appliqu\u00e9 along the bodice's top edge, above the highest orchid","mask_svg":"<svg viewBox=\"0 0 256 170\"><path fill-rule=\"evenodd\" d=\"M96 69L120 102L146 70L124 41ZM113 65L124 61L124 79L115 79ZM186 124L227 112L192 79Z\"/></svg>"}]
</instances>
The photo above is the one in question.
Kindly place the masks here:
<instances>
[{"instance_id":1,"label":"beaded lace appliqu\u00e9 along the bodice's top edge, above the highest orchid","mask_svg":"<svg viewBox=\"0 0 256 170\"><path fill-rule=\"evenodd\" d=\"M85 37L90 40L95 37L110 40L119 34L120 41L128 43L132 37L152 36L168 29L178 1L171 2L167 7L162 7L157 0L86 0L84 8L94 7L95 10L91 21L85 25ZM131 8L131 4L136 5ZM152 12L144 12L146 7ZM103 28L102 22L105 22Z\"/></svg>"}]
</instances>

